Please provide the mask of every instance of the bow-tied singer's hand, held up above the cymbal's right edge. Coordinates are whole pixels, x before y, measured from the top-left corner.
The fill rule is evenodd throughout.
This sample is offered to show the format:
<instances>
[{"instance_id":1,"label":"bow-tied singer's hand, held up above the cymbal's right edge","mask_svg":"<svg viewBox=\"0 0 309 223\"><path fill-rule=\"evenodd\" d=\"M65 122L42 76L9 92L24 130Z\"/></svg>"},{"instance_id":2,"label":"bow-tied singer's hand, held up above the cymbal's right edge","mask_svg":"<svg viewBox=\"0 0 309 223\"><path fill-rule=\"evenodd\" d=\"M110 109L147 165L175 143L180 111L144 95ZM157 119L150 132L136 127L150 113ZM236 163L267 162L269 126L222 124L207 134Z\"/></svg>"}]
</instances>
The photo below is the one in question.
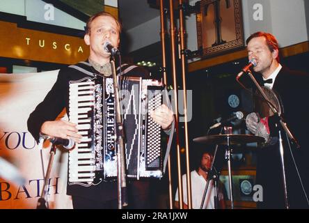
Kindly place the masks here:
<instances>
[{"instance_id":1,"label":"bow-tied singer's hand, held up above the cymbal's right edge","mask_svg":"<svg viewBox=\"0 0 309 223\"><path fill-rule=\"evenodd\" d=\"M260 118L255 112L246 116L246 126L250 132L269 141L268 118Z\"/></svg>"}]
</instances>

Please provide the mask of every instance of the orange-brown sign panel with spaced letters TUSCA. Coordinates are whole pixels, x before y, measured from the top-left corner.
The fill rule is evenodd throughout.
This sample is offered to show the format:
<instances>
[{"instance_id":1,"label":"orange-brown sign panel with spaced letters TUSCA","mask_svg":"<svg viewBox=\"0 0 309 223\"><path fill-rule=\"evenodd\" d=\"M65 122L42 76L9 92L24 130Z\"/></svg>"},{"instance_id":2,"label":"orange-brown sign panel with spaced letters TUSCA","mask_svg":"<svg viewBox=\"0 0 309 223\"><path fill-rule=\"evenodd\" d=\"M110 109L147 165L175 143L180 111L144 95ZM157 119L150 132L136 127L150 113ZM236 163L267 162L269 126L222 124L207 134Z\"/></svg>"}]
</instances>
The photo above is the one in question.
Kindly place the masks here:
<instances>
[{"instance_id":1,"label":"orange-brown sign panel with spaced letters TUSCA","mask_svg":"<svg viewBox=\"0 0 309 223\"><path fill-rule=\"evenodd\" d=\"M89 54L83 38L24 29L3 21L0 21L0 43L0 56L14 59L74 64L85 61Z\"/></svg>"}]
</instances>

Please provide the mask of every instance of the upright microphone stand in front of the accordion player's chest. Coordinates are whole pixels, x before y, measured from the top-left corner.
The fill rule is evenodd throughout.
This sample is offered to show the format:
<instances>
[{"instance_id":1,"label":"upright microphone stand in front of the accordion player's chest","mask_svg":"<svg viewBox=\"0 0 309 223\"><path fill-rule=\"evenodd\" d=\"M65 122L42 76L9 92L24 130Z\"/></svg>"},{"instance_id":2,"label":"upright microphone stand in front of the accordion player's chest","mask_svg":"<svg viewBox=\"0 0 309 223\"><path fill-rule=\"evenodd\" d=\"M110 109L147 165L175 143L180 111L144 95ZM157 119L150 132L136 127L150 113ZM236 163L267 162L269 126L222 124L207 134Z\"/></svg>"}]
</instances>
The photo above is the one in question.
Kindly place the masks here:
<instances>
[{"instance_id":1,"label":"upright microphone stand in front of the accordion player's chest","mask_svg":"<svg viewBox=\"0 0 309 223\"><path fill-rule=\"evenodd\" d=\"M127 206L127 183L125 179L125 132L120 114L120 101L118 91L117 72L115 58L111 54L111 71L113 76L113 89L116 103L116 148L117 148L117 187L118 187L118 208Z\"/></svg>"}]
</instances>

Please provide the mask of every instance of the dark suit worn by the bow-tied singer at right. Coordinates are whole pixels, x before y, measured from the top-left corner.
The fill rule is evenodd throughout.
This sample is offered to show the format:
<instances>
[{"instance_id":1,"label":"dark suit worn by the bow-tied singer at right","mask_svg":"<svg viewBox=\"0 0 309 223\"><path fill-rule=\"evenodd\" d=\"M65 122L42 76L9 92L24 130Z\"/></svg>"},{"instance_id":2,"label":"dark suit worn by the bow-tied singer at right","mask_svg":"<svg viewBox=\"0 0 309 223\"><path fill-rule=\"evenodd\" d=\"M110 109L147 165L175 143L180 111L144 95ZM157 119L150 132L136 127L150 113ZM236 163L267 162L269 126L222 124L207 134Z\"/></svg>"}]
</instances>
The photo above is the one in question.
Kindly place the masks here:
<instances>
[{"instance_id":1,"label":"dark suit worn by the bow-tied singer at right","mask_svg":"<svg viewBox=\"0 0 309 223\"><path fill-rule=\"evenodd\" d=\"M274 91L278 93L284 109L284 118L290 130L299 140L301 148L292 146L292 153L284 141L285 173L287 192L291 208L309 208L306 202L294 161L303 180L303 186L309 193L309 75L283 67L274 82ZM271 136L278 136L275 118L269 118ZM283 132L283 131L282 131ZM283 137L286 139L283 132ZM293 159L294 157L294 159ZM259 202L260 208L285 208L283 195L282 167L280 162L279 144L262 148L258 152L257 183L263 186L264 201Z\"/></svg>"}]
</instances>

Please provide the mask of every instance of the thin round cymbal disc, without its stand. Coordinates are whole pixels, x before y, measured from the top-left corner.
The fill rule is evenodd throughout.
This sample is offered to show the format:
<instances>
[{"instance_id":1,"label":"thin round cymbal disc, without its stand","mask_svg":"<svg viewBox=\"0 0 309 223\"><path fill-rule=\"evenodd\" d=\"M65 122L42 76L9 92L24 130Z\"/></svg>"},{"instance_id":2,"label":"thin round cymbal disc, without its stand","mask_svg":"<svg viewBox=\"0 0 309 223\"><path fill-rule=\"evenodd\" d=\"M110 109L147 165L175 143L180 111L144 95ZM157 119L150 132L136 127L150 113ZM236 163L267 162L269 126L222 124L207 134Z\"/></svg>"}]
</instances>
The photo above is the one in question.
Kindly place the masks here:
<instances>
[{"instance_id":1,"label":"thin round cymbal disc, without its stand","mask_svg":"<svg viewBox=\"0 0 309 223\"><path fill-rule=\"evenodd\" d=\"M230 145L249 144L253 142L262 143L265 141L263 137L256 137L251 134L213 134L195 138L193 141L200 144L227 145L228 139L230 140Z\"/></svg>"}]
</instances>

